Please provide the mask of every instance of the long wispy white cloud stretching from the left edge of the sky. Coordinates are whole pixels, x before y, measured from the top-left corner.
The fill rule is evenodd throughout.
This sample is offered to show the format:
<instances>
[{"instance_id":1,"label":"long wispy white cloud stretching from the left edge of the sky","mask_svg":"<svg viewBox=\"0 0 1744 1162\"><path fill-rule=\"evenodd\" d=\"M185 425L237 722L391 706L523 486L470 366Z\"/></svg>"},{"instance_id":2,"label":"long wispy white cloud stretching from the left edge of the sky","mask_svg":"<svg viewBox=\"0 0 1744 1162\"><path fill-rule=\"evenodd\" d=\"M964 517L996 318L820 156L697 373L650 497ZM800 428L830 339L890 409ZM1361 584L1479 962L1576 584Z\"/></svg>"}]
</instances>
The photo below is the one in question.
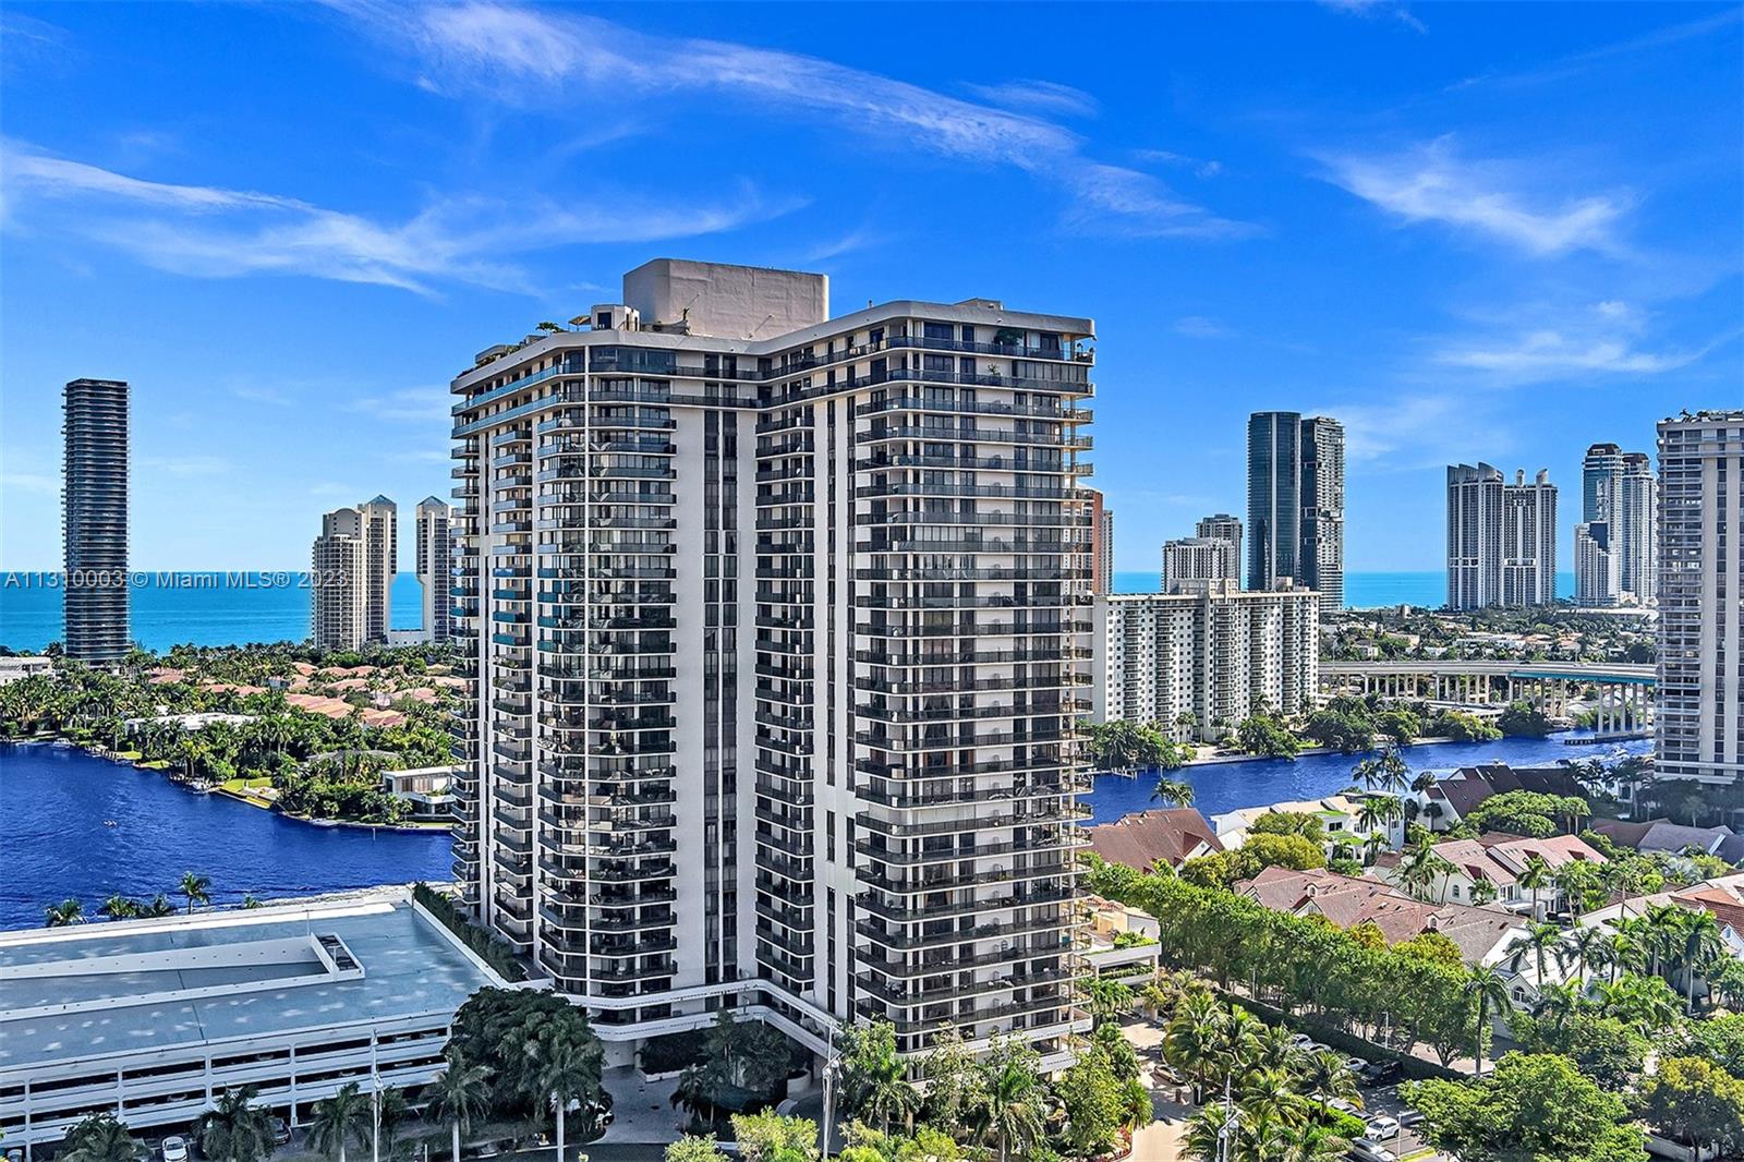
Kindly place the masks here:
<instances>
[{"instance_id":1,"label":"long wispy white cloud stretching from the left edge of the sky","mask_svg":"<svg viewBox=\"0 0 1744 1162\"><path fill-rule=\"evenodd\" d=\"M9 225L30 206L33 227L84 236L160 270L300 274L424 295L450 281L525 291L532 276L504 256L717 234L797 204L771 202L741 185L726 201L694 206L610 195L514 204L450 197L405 222L375 222L277 194L133 178L16 141L0 147L0 171Z\"/></svg>"}]
</instances>

